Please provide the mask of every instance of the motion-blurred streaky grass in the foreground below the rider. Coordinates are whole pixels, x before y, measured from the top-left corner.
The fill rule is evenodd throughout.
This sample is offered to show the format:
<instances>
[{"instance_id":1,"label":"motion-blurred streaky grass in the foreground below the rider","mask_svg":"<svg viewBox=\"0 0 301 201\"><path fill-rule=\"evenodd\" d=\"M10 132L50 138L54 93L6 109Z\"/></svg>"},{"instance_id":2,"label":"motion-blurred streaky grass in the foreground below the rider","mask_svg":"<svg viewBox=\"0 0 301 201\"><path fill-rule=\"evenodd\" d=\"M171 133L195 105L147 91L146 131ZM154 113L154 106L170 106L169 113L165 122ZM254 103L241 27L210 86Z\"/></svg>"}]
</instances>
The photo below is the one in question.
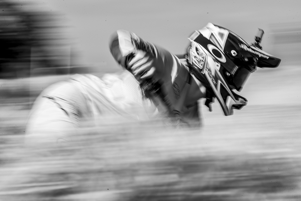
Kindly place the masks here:
<instances>
[{"instance_id":1,"label":"motion-blurred streaky grass in the foreground below the rider","mask_svg":"<svg viewBox=\"0 0 301 201\"><path fill-rule=\"evenodd\" d=\"M42 81L33 86L43 88ZM42 89L30 90L36 96ZM231 117L203 108L200 130L110 116L97 126L85 122L69 146L26 147L31 103L17 95L2 100L0 200L301 199L295 103L250 104Z\"/></svg>"}]
</instances>

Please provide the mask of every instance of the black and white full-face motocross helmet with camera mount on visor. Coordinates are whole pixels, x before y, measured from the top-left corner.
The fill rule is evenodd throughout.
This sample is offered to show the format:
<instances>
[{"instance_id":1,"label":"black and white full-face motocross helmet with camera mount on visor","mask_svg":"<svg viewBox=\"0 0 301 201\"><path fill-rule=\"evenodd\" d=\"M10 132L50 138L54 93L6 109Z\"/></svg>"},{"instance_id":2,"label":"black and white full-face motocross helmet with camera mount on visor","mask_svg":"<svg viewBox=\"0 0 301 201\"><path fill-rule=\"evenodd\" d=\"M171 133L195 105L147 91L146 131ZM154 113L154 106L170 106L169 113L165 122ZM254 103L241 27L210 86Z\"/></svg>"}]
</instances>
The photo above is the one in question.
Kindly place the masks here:
<instances>
[{"instance_id":1,"label":"black and white full-face motocross helmet with camera mount on visor","mask_svg":"<svg viewBox=\"0 0 301 201\"><path fill-rule=\"evenodd\" d=\"M279 58L262 51L258 43L262 35L256 44L249 45L230 30L208 23L188 38L188 67L208 94L218 99L225 115L232 115L233 108L240 109L247 104L247 99L233 90L241 91L257 67L274 68L280 64Z\"/></svg>"}]
</instances>

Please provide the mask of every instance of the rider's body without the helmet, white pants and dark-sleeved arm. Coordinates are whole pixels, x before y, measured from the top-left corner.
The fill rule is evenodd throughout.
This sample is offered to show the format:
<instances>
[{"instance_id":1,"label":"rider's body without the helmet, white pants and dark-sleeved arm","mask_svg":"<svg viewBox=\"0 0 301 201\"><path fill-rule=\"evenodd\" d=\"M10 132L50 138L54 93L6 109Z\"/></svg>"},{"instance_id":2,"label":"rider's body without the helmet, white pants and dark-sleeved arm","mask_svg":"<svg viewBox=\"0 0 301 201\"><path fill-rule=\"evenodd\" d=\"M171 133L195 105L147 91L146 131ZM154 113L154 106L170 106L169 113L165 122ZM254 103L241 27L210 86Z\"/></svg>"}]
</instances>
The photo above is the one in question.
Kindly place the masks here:
<instances>
[{"instance_id":1,"label":"rider's body without the helmet, white pants and dark-sleeved arm","mask_svg":"<svg viewBox=\"0 0 301 201\"><path fill-rule=\"evenodd\" d=\"M100 121L104 115L163 117L176 126L200 126L197 101L206 90L175 55L124 30L113 35L110 51L128 71L101 78L76 74L43 90L30 111L26 143L68 142L82 119Z\"/></svg>"}]
</instances>

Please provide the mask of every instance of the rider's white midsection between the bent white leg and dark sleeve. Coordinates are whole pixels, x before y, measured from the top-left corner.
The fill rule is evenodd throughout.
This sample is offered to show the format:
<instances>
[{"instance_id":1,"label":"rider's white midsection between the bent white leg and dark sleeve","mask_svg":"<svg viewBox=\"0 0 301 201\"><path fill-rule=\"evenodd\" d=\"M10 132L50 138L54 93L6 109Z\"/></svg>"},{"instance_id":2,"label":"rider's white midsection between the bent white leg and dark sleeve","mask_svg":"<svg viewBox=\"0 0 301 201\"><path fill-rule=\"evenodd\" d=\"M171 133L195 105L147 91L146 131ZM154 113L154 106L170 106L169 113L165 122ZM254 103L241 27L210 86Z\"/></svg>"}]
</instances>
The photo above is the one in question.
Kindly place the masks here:
<instances>
[{"instance_id":1,"label":"rider's white midsection between the bent white leg and dark sleeve","mask_svg":"<svg viewBox=\"0 0 301 201\"><path fill-rule=\"evenodd\" d=\"M91 74L76 74L69 81L84 94L89 116L128 114L139 120L146 115L158 115L157 107L143 96L138 81L128 71L104 74L100 78Z\"/></svg>"}]
</instances>

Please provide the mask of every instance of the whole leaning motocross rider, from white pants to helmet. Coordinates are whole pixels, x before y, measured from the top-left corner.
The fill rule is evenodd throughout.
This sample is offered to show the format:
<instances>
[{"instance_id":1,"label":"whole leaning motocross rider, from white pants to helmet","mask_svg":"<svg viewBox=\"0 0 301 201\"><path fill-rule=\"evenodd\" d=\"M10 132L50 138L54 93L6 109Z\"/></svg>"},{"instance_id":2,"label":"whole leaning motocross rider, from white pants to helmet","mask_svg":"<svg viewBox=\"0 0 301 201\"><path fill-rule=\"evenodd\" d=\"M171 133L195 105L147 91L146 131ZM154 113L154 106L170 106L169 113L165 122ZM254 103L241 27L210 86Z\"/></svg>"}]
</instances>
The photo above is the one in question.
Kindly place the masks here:
<instances>
[{"instance_id":1,"label":"whole leaning motocross rider, from white pants to helmet","mask_svg":"<svg viewBox=\"0 0 301 201\"><path fill-rule=\"evenodd\" d=\"M216 97L225 115L231 115L233 108L247 104L232 89L241 90L257 66L274 68L280 63L280 59L211 23L189 39L187 60L182 62L132 32L116 31L110 51L127 71L101 78L76 74L48 87L33 106L27 136L34 142L36 138L69 141L82 119L92 117L101 122L99 118L111 114L134 118L159 115L177 127L200 126L199 99L206 98L209 106Z\"/></svg>"}]
</instances>

